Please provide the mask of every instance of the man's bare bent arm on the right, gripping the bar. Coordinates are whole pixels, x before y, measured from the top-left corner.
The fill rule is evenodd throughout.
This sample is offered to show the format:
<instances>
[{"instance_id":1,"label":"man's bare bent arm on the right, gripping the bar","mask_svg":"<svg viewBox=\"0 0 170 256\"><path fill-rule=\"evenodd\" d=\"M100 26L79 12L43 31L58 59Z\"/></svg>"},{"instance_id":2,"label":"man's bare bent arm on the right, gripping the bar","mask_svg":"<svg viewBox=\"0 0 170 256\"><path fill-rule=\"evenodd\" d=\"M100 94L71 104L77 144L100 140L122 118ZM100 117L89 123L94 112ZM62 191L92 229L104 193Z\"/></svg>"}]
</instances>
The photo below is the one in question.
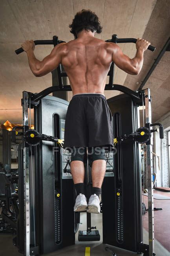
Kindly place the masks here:
<instances>
[{"instance_id":1,"label":"man's bare bent arm on the right, gripping the bar","mask_svg":"<svg viewBox=\"0 0 170 256\"><path fill-rule=\"evenodd\" d=\"M150 43L148 41L138 38L136 42L136 56L133 59L130 59L127 55L122 53L122 50L118 45L113 44L112 60L117 67L124 70L126 73L137 75L142 69L143 54L149 45Z\"/></svg>"}]
</instances>

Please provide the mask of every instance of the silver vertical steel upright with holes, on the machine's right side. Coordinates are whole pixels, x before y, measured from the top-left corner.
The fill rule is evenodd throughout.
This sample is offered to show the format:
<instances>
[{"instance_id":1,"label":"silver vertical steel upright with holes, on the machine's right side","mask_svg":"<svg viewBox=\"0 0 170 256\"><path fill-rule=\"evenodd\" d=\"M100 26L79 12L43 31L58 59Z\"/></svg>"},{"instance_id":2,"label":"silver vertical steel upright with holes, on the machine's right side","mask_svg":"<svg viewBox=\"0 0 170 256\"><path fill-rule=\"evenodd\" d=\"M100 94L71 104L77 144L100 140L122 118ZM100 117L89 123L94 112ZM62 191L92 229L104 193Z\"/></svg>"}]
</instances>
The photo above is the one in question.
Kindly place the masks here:
<instances>
[{"instance_id":1,"label":"silver vertical steel upright with holes, on the machine's right side","mask_svg":"<svg viewBox=\"0 0 170 256\"><path fill-rule=\"evenodd\" d=\"M146 127L150 129L152 122L150 89L144 90ZM152 144L153 135L146 143L147 149L147 173L148 173L148 227L149 227L149 256L154 253L154 188L153 188L153 167L152 167Z\"/></svg>"}]
</instances>

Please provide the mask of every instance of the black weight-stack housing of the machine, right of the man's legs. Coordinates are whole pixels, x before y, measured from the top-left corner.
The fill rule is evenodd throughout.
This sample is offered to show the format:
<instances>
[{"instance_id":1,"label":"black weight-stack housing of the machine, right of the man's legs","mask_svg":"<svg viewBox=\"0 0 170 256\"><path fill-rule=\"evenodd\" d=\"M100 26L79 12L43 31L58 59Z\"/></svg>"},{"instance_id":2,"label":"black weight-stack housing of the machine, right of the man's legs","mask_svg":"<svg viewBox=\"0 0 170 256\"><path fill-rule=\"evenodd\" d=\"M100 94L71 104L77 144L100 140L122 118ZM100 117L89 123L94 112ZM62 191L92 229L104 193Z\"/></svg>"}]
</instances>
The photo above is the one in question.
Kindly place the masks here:
<instances>
[{"instance_id":1,"label":"black weight-stack housing of the machine, right of the man's legs","mask_svg":"<svg viewBox=\"0 0 170 256\"><path fill-rule=\"evenodd\" d=\"M108 105L114 113L114 137L138 128L138 104L131 97L117 95L108 99ZM114 177L106 177L102 185L103 242L134 252L141 252L139 244L143 241L138 147L134 140L117 144ZM130 236L127 230L130 230Z\"/></svg>"}]
</instances>

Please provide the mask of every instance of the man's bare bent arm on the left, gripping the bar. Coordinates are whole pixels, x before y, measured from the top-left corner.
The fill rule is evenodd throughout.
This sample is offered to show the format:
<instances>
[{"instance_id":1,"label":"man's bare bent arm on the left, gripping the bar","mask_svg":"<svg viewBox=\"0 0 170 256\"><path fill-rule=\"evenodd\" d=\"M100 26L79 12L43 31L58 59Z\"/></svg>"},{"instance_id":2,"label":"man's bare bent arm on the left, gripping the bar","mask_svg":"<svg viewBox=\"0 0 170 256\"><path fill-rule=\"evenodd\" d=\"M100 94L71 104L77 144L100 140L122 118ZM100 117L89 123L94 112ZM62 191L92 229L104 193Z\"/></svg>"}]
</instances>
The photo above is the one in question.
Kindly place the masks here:
<instances>
[{"instance_id":1,"label":"man's bare bent arm on the left, gripping the bar","mask_svg":"<svg viewBox=\"0 0 170 256\"><path fill-rule=\"evenodd\" d=\"M35 76L45 76L58 67L61 63L62 45L55 46L48 56L39 61L34 54L34 41L30 40L22 44L22 48L28 57L29 67Z\"/></svg>"}]
</instances>

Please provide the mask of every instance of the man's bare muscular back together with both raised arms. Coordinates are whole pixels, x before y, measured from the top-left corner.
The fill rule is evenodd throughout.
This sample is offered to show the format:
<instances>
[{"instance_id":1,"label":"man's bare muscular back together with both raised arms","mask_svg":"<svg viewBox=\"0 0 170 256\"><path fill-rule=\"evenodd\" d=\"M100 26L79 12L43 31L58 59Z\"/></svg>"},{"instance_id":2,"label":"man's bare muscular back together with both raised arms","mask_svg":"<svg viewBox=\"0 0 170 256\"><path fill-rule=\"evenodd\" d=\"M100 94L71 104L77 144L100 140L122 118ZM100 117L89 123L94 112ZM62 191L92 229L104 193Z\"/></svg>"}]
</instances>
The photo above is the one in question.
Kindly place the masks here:
<instances>
[{"instance_id":1,"label":"man's bare muscular back together with both raised arms","mask_svg":"<svg viewBox=\"0 0 170 256\"><path fill-rule=\"evenodd\" d=\"M62 63L75 95L78 93L104 94L112 61L128 74L139 74L143 65L143 53L150 43L144 39L138 39L136 45L136 56L130 59L115 43L106 43L94 36L84 34L73 41L55 46L51 54L42 61L35 58L33 40L26 41L22 47L27 52L29 67L35 76L44 76Z\"/></svg>"}]
</instances>

